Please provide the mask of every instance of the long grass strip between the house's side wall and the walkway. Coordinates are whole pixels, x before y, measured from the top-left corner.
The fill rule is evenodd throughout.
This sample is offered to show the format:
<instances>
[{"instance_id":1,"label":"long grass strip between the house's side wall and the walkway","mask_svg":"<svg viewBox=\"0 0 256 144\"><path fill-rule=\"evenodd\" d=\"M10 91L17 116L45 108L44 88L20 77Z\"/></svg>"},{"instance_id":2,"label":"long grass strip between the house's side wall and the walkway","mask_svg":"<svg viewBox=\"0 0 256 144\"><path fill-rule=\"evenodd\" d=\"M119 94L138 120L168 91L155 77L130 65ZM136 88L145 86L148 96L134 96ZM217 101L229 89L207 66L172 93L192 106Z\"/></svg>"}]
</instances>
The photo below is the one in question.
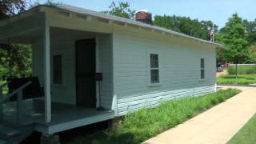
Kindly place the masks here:
<instances>
[{"instance_id":1,"label":"long grass strip between the house's side wall and the walkway","mask_svg":"<svg viewBox=\"0 0 256 144\"><path fill-rule=\"evenodd\" d=\"M202 111L238 94L239 90L218 90L202 97L164 102L153 109L142 109L123 118L122 125L90 136L78 136L70 143L140 143L152 138Z\"/></svg>"}]
</instances>

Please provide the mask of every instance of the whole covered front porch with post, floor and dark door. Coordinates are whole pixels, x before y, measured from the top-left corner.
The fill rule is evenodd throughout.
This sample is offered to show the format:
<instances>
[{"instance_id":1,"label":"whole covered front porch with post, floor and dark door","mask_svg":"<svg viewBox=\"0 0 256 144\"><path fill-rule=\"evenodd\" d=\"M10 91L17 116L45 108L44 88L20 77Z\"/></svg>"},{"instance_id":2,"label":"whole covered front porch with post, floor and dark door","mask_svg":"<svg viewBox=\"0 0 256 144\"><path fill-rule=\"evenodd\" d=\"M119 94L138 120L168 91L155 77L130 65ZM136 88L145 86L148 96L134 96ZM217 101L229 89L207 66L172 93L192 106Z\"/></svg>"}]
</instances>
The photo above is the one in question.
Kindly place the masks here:
<instances>
[{"instance_id":1,"label":"whole covered front porch with post, floor and dark door","mask_svg":"<svg viewBox=\"0 0 256 144\"><path fill-rule=\"evenodd\" d=\"M45 13L41 9L48 8L40 6L34 9L38 10L0 22L0 43L32 47L32 76L38 78L43 95L25 99L23 89L31 83L7 95L0 86L1 125L20 131L21 126L30 126L30 130L54 134L114 118L117 100L110 30L99 29L102 24L87 21L86 16ZM102 74L100 82L97 74ZM10 102L13 97L16 101ZM4 131L0 129L0 138L5 138Z\"/></svg>"}]
</instances>

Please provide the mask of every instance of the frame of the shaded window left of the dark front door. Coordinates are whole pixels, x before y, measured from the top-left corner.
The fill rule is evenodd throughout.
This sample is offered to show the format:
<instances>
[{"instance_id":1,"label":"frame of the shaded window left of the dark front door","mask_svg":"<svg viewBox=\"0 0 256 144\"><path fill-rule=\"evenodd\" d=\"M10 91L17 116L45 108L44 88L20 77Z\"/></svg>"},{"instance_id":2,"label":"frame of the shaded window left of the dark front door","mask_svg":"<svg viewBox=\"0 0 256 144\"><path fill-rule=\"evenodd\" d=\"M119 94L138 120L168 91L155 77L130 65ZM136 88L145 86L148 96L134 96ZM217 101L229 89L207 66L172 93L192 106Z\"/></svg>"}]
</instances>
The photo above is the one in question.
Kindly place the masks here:
<instances>
[{"instance_id":1,"label":"frame of the shaded window left of the dark front door","mask_svg":"<svg viewBox=\"0 0 256 144\"><path fill-rule=\"evenodd\" d=\"M61 59L60 59L60 63L61 63L61 67L60 67L60 70L61 70L61 76L60 76L60 78L61 78L61 82L60 83L56 83L55 82L55 72L54 72L54 70L55 70L55 64L54 64L54 61L55 61L55 57L60 57ZM54 86L63 86L63 55L62 54L53 54L53 56L52 56L52 62L53 62L53 66L52 66L52 76L53 76L53 78L52 78L52 83L53 83L53 85Z\"/></svg>"}]
</instances>

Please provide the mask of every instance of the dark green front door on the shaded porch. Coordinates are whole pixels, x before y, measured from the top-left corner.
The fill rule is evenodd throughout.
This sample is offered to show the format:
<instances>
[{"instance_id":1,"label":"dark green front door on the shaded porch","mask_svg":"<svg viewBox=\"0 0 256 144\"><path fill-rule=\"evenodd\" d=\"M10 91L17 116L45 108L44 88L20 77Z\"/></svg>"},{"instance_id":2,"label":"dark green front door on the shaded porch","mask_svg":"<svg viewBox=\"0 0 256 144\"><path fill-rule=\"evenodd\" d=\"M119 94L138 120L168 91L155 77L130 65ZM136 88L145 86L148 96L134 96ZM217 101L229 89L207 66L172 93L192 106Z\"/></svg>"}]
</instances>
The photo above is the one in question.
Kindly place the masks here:
<instances>
[{"instance_id":1,"label":"dark green front door on the shaded porch","mask_svg":"<svg viewBox=\"0 0 256 144\"><path fill-rule=\"evenodd\" d=\"M96 107L95 39L76 42L76 104Z\"/></svg>"}]
</instances>

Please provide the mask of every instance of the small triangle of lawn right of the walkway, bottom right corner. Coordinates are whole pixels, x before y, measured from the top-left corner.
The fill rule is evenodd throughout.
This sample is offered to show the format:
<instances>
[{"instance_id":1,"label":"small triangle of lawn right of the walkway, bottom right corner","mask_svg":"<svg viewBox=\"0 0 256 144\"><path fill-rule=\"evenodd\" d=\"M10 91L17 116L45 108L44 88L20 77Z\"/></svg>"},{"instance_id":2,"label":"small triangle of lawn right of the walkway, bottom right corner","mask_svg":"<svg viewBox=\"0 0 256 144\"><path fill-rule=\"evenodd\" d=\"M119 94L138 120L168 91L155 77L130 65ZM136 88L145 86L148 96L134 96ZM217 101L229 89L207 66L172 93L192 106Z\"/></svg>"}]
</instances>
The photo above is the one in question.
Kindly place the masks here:
<instances>
[{"instance_id":1,"label":"small triangle of lawn right of the walkway, bottom right corner","mask_svg":"<svg viewBox=\"0 0 256 144\"><path fill-rule=\"evenodd\" d=\"M256 115L243 126L238 134L228 142L228 144L254 144L256 143Z\"/></svg>"}]
</instances>

